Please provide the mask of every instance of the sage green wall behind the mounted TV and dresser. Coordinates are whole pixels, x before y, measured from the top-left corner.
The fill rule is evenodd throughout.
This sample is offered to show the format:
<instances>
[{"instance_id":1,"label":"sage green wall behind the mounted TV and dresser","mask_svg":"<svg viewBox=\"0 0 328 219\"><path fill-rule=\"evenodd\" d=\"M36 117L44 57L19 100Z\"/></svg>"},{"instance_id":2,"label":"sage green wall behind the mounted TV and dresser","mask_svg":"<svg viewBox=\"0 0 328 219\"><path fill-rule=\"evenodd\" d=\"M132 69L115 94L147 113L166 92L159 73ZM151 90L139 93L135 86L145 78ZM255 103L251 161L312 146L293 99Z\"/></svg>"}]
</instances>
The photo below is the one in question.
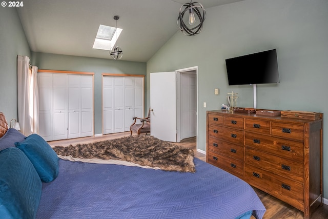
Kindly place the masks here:
<instances>
[{"instance_id":1,"label":"sage green wall behind the mounted TV and dresser","mask_svg":"<svg viewBox=\"0 0 328 219\"><path fill-rule=\"evenodd\" d=\"M206 150L206 111L227 103L228 92L239 94L238 106L253 107L252 86L228 86L226 58L276 48L280 84L257 86L257 108L318 111L328 116L327 24L326 0L245 0L209 8L203 31L197 36L177 32L147 62L147 76L198 66L201 150ZM219 95L214 95L215 88ZM148 105L149 91L148 81ZM324 191L328 191L327 123L324 120Z\"/></svg>"}]
</instances>

